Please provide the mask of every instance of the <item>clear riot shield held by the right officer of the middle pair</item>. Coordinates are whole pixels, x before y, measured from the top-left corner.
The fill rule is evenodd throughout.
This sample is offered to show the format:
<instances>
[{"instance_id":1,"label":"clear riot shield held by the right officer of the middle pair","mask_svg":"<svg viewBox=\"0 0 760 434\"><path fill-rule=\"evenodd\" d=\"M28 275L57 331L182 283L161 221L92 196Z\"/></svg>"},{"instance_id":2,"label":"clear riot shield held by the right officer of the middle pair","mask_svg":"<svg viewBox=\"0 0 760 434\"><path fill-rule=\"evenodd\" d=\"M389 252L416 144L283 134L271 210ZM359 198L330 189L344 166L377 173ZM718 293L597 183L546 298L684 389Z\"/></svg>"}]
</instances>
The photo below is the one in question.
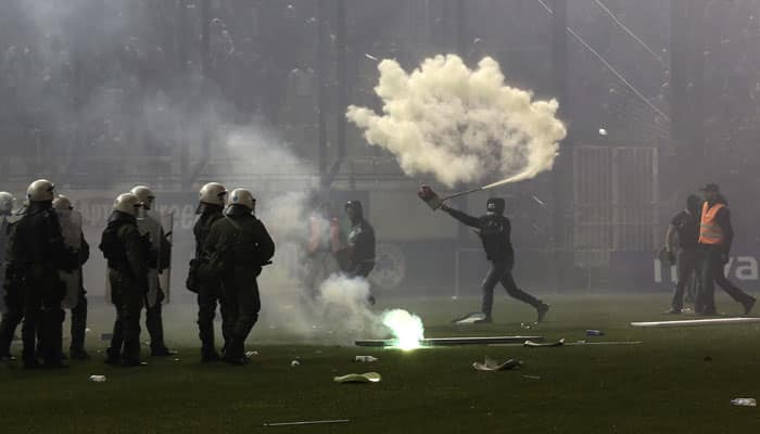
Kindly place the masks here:
<instances>
[{"instance_id":1,"label":"clear riot shield held by the right officer of the middle pair","mask_svg":"<svg viewBox=\"0 0 760 434\"><path fill-rule=\"evenodd\" d=\"M172 277L172 227L173 214L154 210L141 212L137 218L140 234L148 237L151 245L150 269L148 271L148 307L168 301ZM166 229L165 229L166 228Z\"/></svg>"}]
</instances>

